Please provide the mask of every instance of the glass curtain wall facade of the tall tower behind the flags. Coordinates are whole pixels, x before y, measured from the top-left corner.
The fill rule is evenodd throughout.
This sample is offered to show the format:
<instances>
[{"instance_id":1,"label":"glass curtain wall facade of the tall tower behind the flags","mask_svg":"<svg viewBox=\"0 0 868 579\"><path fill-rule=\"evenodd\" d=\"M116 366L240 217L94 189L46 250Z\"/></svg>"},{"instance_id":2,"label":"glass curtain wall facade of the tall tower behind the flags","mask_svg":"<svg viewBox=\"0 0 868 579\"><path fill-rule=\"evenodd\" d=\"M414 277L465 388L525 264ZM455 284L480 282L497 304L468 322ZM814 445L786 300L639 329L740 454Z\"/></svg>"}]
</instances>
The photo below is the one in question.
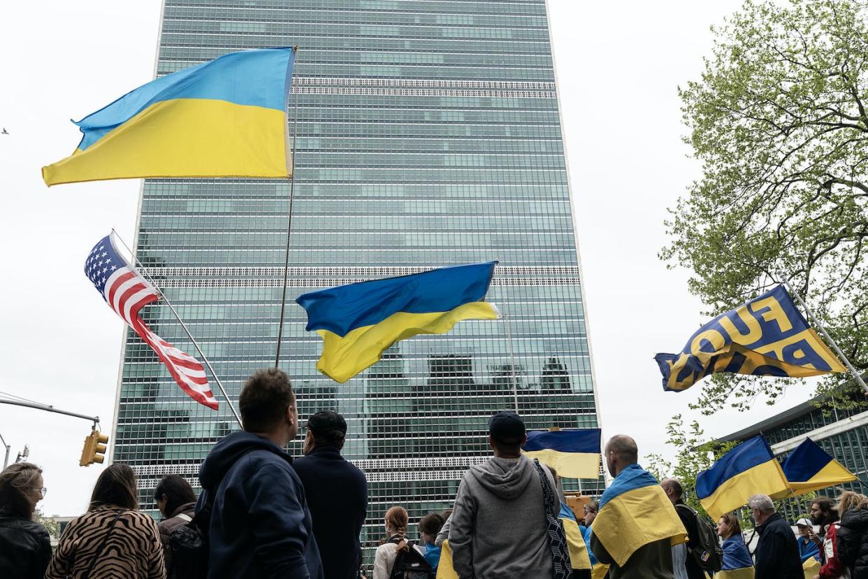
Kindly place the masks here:
<instances>
[{"instance_id":1,"label":"glass curtain wall facade of the tall tower behind the flags","mask_svg":"<svg viewBox=\"0 0 868 579\"><path fill-rule=\"evenodd\" d=\"M297 135L286 326L279 366L302 424L334 409L344 455L365 470L366 558L392 504L450 507L470 464L490 456L491 414L529 428L598 425L567 168L544 0L166 0L157 74L240 49L299 46L290 95ZM135 251L237 401L274 363L290 183L145 181ZM315 370L320 339L293 302L313 289L500 260L489 298L505 319L405 340L344 385ZM194 352L167 306L164 339ZM218 395L216 385L212 383ZM113 458L141 477L197 483L237 429L196 405L130 332ZM300 455L299 438L290 444ZM590 494L602 478L568 484Z\"/></svg>"}]
</instances>

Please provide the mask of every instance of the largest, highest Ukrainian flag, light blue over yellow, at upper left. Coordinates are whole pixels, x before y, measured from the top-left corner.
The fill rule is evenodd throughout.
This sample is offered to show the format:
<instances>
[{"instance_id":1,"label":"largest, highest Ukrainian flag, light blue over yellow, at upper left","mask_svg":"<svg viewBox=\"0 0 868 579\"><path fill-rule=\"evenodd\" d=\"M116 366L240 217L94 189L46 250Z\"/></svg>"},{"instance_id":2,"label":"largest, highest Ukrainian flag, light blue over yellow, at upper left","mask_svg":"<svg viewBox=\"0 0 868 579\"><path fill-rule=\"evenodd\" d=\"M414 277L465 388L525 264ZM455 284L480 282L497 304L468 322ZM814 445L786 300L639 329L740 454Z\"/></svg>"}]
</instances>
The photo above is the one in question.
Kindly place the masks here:
<instances>
[{"instance_id":1,"label":"largest, highest Ukrainian flag, light blue over yellow, at upper left","mask_svg":"<svg viewBox=\"0 0 868 579\"><path fill-rule=\"evenodd\" d=\"M148 82L75 124L49 186L136 177L292 176L286 96L291 48L245 50Z\"/></svg>"}]
</instances>

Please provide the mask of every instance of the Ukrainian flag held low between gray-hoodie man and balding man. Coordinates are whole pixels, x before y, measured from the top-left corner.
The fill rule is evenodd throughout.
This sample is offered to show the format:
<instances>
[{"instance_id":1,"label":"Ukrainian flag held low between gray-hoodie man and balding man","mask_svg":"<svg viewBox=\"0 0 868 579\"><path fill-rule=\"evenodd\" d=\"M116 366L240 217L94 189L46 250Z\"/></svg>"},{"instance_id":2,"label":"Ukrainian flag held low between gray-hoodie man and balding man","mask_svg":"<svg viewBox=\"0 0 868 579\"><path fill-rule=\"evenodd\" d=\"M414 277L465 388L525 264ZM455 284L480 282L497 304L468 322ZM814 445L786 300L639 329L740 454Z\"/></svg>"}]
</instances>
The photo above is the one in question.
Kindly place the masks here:
<instances>
[{"instance_id":1,"label":"Ukrainian flag held low between gray-hoodie man and balding man","mask_svg":"<svg viewBox=\"0 0 868 579\"><path fill-rule=\"evenodd\" d=\"M561 477L600 477L600 429L529 431L522 447L531 459L549 464Z\"/></svg>"}]
</instances>

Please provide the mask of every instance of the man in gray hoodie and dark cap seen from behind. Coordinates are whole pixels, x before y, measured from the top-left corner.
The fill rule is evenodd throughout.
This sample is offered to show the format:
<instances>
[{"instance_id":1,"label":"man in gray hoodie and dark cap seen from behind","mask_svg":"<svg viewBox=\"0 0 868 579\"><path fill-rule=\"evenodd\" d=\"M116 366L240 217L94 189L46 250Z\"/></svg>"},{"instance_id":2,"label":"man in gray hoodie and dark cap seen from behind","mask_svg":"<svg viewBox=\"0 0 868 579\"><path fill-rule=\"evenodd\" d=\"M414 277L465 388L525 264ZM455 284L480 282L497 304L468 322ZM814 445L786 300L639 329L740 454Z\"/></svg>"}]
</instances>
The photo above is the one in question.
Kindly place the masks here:
<instances>
[{"instance_id":1,"label":"man in gray hoodie and dark cap seen from behind","mask_svg":"<svg viewBox=\"0 0 868 579\"><path fill-rule=\"evenodd\" d=\"M490 418L494 457L464 473L450 517L452 563L460 579L551 579L542 481L522 454L526 439L524 422L515 412ZM542 470L555 488L549 469Z\"/></svg>"}]
</instances>

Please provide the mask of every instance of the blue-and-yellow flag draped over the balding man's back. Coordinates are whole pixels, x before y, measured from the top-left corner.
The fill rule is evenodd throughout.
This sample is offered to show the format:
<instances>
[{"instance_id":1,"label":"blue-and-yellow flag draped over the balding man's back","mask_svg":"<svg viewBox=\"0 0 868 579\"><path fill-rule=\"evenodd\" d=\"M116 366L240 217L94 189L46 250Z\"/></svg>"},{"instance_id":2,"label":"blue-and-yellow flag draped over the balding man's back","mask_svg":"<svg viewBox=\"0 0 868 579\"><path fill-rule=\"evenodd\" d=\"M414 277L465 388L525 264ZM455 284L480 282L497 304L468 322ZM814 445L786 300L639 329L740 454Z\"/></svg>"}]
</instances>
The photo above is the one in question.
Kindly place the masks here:
<instances>
[{"instance_id":1,"label":"blue-and-yellow flag draped over the balding man's back","mask_svg":"<svg viewBox=\"0 0 868 579\"><path fill-rule=\"evenodd\" d=\"M600 498L591 532L619 567L636 549L669 539L687 541L687 531L657 479L638 464L630 464Z\"/></svg>"}]
</instances>

